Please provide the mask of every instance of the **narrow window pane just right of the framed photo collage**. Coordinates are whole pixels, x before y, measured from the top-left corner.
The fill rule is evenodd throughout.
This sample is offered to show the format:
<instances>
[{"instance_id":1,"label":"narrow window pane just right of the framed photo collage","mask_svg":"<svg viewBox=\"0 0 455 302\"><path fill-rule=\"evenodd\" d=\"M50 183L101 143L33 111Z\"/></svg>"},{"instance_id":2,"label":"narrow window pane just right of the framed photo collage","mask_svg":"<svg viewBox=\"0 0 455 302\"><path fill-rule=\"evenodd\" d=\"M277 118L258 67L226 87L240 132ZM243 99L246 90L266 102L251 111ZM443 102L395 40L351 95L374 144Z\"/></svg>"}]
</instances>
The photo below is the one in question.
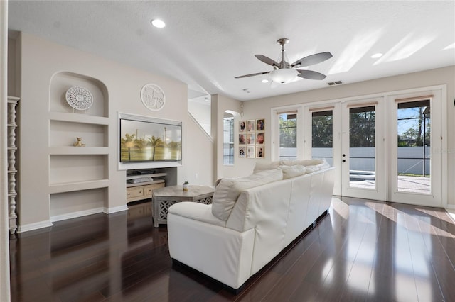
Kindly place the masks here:
<instances>
[{"instance_id":1,"label":"narrow window pane just right of the framed photo collage","mask_svg":"<svg viewBox=\"0 0 455 302\"><path fill-rule=\"evenodd\" d=\"M297 158L297 112L278 113L279 159Z\"/></svg>"}]
</instances>

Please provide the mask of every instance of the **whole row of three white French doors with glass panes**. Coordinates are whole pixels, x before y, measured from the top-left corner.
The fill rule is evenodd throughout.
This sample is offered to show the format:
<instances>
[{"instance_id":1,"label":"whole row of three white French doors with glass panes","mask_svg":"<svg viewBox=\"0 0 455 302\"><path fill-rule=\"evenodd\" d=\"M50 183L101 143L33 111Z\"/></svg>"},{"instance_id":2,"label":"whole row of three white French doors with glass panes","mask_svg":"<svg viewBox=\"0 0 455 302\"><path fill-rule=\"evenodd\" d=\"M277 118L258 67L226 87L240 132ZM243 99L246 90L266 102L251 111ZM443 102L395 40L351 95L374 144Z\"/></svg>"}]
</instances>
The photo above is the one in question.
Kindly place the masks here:
<instances>
[{"instance_id":1,"label":"whole row of three white French doors with glass panes","mask_svg":"<svg viewBox=\"0 0 455 302\"><path fill-rule=\"evenodd\" d=\"M336 167L334 195L444 206L442 93L305 105L304 157Z\"/></svg>"}]
</instances>

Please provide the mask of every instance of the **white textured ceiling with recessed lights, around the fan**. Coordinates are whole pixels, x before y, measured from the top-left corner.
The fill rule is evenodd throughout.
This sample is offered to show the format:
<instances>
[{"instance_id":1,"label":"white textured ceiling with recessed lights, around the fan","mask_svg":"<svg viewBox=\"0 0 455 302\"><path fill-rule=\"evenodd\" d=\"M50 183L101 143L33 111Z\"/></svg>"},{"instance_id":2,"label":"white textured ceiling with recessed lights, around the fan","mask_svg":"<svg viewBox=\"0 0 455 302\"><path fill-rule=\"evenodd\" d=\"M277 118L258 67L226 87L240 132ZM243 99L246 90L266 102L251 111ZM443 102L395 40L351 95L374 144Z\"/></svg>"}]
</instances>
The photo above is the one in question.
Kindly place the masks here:
<instances>
[{"instance_id":1,"label":"white textured ceiling with recessed lights, around the fan","mask_svg":"<svg viewBox=\"0 0 455 302\"><path fill-rule=\"evenodd\" d=\"M166 28L150 25L161 18ZM455 65L455 1L9 1L9 29L172 77L188 98L247 101ZM329 51L308 67L322 81L263 84L254 57L289 62ZM379 59L370 56L376 52ZM247 91L250 91L249 93Z\"/></svg>"}]
</instances>

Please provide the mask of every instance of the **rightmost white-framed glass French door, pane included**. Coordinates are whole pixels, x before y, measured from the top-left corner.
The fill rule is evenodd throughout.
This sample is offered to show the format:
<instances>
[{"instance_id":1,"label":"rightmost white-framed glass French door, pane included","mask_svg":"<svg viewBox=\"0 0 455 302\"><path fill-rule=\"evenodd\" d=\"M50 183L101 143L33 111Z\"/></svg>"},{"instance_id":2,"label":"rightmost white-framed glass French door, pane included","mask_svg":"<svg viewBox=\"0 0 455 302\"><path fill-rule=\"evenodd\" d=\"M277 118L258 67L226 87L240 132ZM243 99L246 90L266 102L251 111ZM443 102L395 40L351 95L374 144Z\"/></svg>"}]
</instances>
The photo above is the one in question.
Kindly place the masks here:
<instances>
[{"instance_id":1,"label":"rightmost white-framed glass French door, pane included","mask_svg":"<svg viewBox=\"0 0 455 302\"><path fill-rule=\"evenodd\" d=\"M444 101L441 89L389 97L389 200L423 206L445 205L442 188Z\"/></svg>"}]
</instances>

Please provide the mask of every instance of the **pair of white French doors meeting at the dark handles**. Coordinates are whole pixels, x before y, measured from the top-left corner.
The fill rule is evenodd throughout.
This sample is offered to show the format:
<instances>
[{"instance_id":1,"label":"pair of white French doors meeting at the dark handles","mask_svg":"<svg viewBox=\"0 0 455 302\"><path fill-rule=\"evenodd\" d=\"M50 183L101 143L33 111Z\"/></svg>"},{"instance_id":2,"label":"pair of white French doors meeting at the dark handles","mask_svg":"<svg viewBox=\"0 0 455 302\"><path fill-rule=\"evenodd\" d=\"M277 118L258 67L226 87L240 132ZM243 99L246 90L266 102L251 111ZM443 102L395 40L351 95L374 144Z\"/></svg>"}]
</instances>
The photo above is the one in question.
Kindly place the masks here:
<instances>
[{"instance_id":1,"label":"pair of white French doors meeting at the dark handles","mask_svg":"<svg viewBox=\"0 0 455 302\"><path fill-rule=\"evenodd\" d=\"M304 140L305 154L336 167L333 194L385 200L382 104L370 99L306 108L306 138L311 139Z\"/></svg>"}]
</instances>

